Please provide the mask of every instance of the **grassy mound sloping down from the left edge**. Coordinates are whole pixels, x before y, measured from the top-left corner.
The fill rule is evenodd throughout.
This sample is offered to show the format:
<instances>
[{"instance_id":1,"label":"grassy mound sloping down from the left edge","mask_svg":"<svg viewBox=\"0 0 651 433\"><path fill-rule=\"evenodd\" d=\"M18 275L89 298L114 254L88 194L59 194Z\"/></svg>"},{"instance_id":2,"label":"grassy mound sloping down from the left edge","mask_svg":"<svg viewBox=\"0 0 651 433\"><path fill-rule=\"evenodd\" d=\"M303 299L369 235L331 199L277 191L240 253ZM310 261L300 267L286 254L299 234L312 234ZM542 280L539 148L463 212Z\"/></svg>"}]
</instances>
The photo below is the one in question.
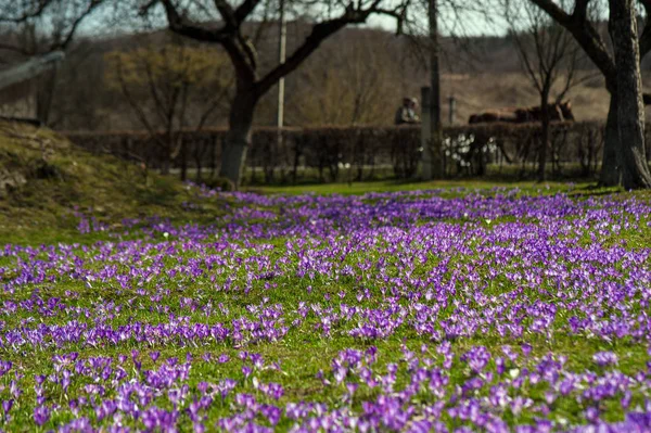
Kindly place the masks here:
<instances>
[{"instance_id":1,"label":"grassy mound sloping down from the left edge","mask_svg":"<svg viewBox=\"0 0 651 433\"><path fill-rule=\"evenodd\" d=\"M43 165L51 171L47 176L37 170ZM0 239L5 242L74 242L75 209L115 228L123 218L154 215L201 222L222 207L217 201L184 209L182 204L193 198L178 179L90 154L42 128L0 123L0 167L26 180L0 189Z\"/></svg>"}]
</instances>

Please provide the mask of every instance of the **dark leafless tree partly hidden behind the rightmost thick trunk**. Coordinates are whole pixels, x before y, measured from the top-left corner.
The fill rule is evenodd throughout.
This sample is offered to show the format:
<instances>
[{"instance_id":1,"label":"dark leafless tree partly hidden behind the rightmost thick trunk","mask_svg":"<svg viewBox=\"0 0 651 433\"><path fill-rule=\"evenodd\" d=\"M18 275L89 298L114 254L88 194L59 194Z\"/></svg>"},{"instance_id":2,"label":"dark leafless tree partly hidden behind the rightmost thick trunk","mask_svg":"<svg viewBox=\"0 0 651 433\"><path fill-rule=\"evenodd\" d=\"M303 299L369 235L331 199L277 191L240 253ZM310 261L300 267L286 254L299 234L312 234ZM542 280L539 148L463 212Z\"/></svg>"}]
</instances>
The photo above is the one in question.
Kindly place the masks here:
<instances>
[{"instance_id":1,"label":"dark leafless tree partly hidden behind the rightmost thick trunk","mask_svg":"<svg viewBox=\"0 0 651 433\"><path fill-rule=\"evenodd\" d=\"M554 0L528 0L544 10L554 22L566 28L576 42L582 47L592 63L605 78L605 87L611 94L609 115L605 126L605 144L601 166L600 183L603 186L623 184L624 188L643 188L651 183L651 174L646 163L643 147L638 149L637 142L624 141L621 136L620 123L626 122L621 117L617 74L617 54L613 55L609 43L598 31L591 11L599 8L598 0L574 0L572 4L559 4ZM610 7L623 7L620 2L630 3L629 0L610 2ZM616 4L615 4L616 3ZM639 46L641 60L651 51L651 0L639 0L646 12L642 31L633 31ZM635 10L635 9L633 9ZM615 8L615 12L616 12ZM613 18L611 10L611 22ZM611 26L612 28L612 26ZM611 38L621 35L611 31ZM630 35L630 34L629 34ZM620 43L613 43L618 47ZM625 56L625 59L627 59ZM622 60L623 61L623 60ZM637 98L636 98L637 99Z\"/></svg>"}]
</instances>

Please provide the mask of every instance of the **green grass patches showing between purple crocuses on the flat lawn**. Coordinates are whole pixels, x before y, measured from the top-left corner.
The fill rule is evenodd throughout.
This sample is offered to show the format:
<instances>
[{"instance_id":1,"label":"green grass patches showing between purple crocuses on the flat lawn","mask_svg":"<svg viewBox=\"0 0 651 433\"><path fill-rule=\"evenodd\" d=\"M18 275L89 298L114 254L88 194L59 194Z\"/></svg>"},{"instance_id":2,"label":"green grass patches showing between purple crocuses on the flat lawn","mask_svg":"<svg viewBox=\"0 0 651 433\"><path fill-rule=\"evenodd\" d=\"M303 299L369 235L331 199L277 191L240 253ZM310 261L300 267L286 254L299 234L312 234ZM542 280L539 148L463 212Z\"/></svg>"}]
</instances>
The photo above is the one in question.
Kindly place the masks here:
<instances>
[{"instance_id":1,"label":"green grass patches showing between purple crocuses on the flat lawn","mask_svg":"<svg viewBox=\"0 0 651 433\"><path fill-rule=\"evenodd\" d=\"M78 237L78 241L84 241L84 235ZM85 259L91 259L90 255L86 255L81 252L77 252L80 257ZM177 252L178 257L188 260L193 257L192 253L180 253ZM254 257L256 253L246 253L241 257L246 259L247 257ZM281 258L283 256L282 252L276 257ZM362 258L369 258L373 262L379 259L379 256L374 253L370 253L366 257L361 256L348 256L345 263L354 264ZM472 263L476 257L468 256L463 258L464 262ZM394 258L388 257L388 260L392 262ZM424 272L431 268L432 264L436 262L430 263L426 266L419 266L418 270L420 272ZM171 266L173 262L169 263ZM295 264L292 263L291 266ZM41 296L46 296L48 298L51 297L62 297L66 300L65 293L73 292L77 293L77 296L74 298L66 300L66 303L75 305L80 308L88 308L91 311L98 311L102 305L107 302L113 302L116 305L128 305L128 300L136 298L136 302L130 304L128 315L122 315L114 319L108 319L108 323L113 326L126 324L129 321L143 321L148 323L157 323L165 322L168 320L169 314L175 316L189 316L192 322L205 322L206 318L200 311L190 311L188 308L181 308L179 301L181 297L190 297L197 303L205 303L210 301L214 305L222 304L225 307L229 308L230 317L239 317L245 316L251 317L252 315L246 311L247 305L257 305L263 298L268 298L267 303L269 305L273 304L282 304L288 308L295 306L298 302L308 302L316 303L323 306L328 306L328 302L323 301L324 294L330 294L332 297L336 296L336 293L340 291L344 291L348 293L348 296L352 296L356 293L358 289L358 284L355 281L328 281L326 279L320 280L316 279L310 281L307 278L290 278L290 277L280 277L273 280L276 284L278 284L275 289L265 289L265 281L257 281L253 284L252 290L244 294L242 291L235 292L215 292L212 291L210 288L220 286L225 282L225 277L220 277L217 281L210 282L207 276L201 277L199 279L189 279L189 278L174 278L166 279L159 278L156 279L156 283L158 285L163 285L165 288L169 288L169 293L165 294L163 301L155 302L152 301L149 296L155 291L155 285L153 283L145 283L142 288L146 291L145 295L136 295L132 289L123 291L116 289L111 283L100 283L94 284L92 288L86 288L84 284L79 282L62 282L58 283L53 286L43 286L40 288ZM245 272L240 270L235 276L235 283L244 284L245 282ZM370 284L370 282L369 282ZM365 284L366 285L366 284ZM312 286L314 292L311 294L307 293L307 288ZM372 285L369 286L371 289L371 293L373 294L373 298L363 301L360 306L362 307L376 307L376 300L380 295L380 292L376 288ZM509 291L512 288L502 286L499 291ZM496 293L499 293L496 292ZM29 291L17 292L16 294L0 294L0 301L21 301L26 300L31 295ZM537 294L532 294L532 296L539 296ZM544 300L542 297L540 297ZM533 300L532 300L533 301ZM354 301L350 301L352 304L355 304ZM158 305L169 306L170 309L168 311L156 311L156 307ZM153 310L152 310L153 309ZM97 313L94 313L97 314ZM93 315L94 315L93 314ZM451 314L451 311L450 311ZM16 314L11 317L3 318L5 327L16 327L22 321L34 317L33 314L22 311L21 314ZM42 323L60 323L63 320L69 320L69 317L43 317L40 318L39 321ZM215 321L222 320L222 317L217 316L216 318L210 319ZM86 322L89 324L93 323L92 316L89 318L80 317L78 320L81 322ZM269 402L271 404L284 405L290 402L296 400L317 400L321 403L328 403L330 407L337 407L337 405L342 402L342 396L344 394L344 390L340 386L324 386L320 380L317 379L317 373L320 370L328 371L330 368L330 360L337 354L339 351L342 351L346 347L356 347L356 348L368 348L371 345L375 345L379 351L379 362L378 362L378 371L384 371L385 366L390 362L397 362L399 365L404 365L401 361L401 352L400 347L403 344L406 344L411 351L418 352L423 343L426 343L433 347L435 343L429 342L420 338L413 332L410 331L400 331L395 335L391 336L387 340L372 341L372 342L359 342L355 339L352 339L345 335L345 328L341 328L339 326L334 326L332 338L326 338L319 335L319 333L314 332L314 327L317 324L317 321L314 318L308 318L298 329L294 329L290 335L285 339L282 339L278 343L257 343L251 346L244 346L242 349L246 349L253 353L261 354L265 359L268 361L279 361L281 362L283 373L276 373L273 371L261 371L256 373L256 378L258 378L263 382L273 381L278 382L285 389L285 395L279 402ZM570 365L574 371L583 371L586 369L593 369L593 364L591 361L591 355L601 349L614 351L621 355L621 365L620 369L624 373L634 374L637 371L640 371L644 368L646 364L646 347L631 343L629 341L613 341L610 344L604 344L601 341L588 340L588 339L576 339L570 335L554 334L552 340L545 339L542 335L531 335L526 339L500 339L495 335L478 335L472 339L460 339L454 343L454 352L457 356L464 353L468 348L475 345L485 345L490 347L494 351L494 354L499 354L499 347L503 344L510 344L518 346L520 343L528 342L533 345L534 351L533 354L535 356L542 356L548 352L553 352L554 354L566 354L570 356ZM235 359L240 348L233 347L233 345L229 342L226 343L208 343L204 344L200 347L194 346L186 346L186 347L169 347L169 346L157 346L157 345L142 345L135 342L120 344L119 346L106 346L106 347L98 347L98 348L88 348L76 345L71 345L65 348L53 348L52 351L37 351L33 352L29 349L23 352L5 352L0 349L0 357L2 359L9 359L14 362L16 368L22 371L28 372L31 374L33 372L49 372L51 371L51 356L53 353L69 353L69 352L79 352L81 358L90 357L90 356L105 356L116 359L119 354L128 354L131 349L140 349L141 351L141 359L143 359L143 368L151 369L154 368L154 364L151 362L146 358L146 354L151 351L159 349L162 351L162 358L165 359L167 357L179 357L183 358L186 354L190 353L193 357L200 358L204 353L214 353L214 354L229 354L231 358ZM159 365L159 361L158 364ZM248 390L248 392L254 393L257 398L265 400L265 397L259 393L255 393L252 389L252 380L245 379L242 372L240 371L241 364L231 360L226 365L218 365L215 362L197 362L193 365L191 379L186 382L190 385L191 390L195 390L199 382L201 381L209 381L209 382L218 382L224 378L235 378L239 381L239 387ZM460 385L464 383L471 374L463 369L456 369L451 372L451 383L450 386ZM409 381L409 374L405 371L400 373L398 377L396 386L404 386ZM23 382L26 390L29 390L34 385L33 378L27 375L26 380ZM90 382L76 382L75 385L68 391L67 394L76 395L81 393L81 386ZM7 384L5 384L7 385ZM480 395L487 395L487 390L482 390ZM34 398L31 392L27 391L27 395L24 397L26 399ZM55 386L49 384L47 387L47 393L52 398L60 398L61 402L65 402L64 394L61 393L61 390ZM66 395L67 395L66 394ZM356 395L355 400L353 402L352 407L356 410L360 409L361 402L366 399L372 399L376 396L378 391L372 390L361 390L359 394ZM537 391L535 387L528 390L528 395L537 400L542 400L544 395L542 391ZM561 403L554 413L558 417L563 417L569 419L571 422L583 422L580 418L582 407L577 406L576 403L565 402ZM215 422L218 418L225 417L232 413L232 408L229 404L216 405L209 415L210 422ZM612 421L616 421L622 419L622 411L618 407L613 408L609 411L609 419ZM49 426L54 426L58 422L66 422L69 421L71 417L67 415L61 415L53 417L50 422L47 424ZM520 417L518 419L512 419L512 421L525 422L532 421L528 417ZM23 425L23 428L17 428L21 431L29 430L28 425L31 424L31 412L28 408L17 408L14 415L13 423L11 424L13 428L17 425ZM289 429L291 424L280 424L280 429Z\"/></svg>"}]
</instances>

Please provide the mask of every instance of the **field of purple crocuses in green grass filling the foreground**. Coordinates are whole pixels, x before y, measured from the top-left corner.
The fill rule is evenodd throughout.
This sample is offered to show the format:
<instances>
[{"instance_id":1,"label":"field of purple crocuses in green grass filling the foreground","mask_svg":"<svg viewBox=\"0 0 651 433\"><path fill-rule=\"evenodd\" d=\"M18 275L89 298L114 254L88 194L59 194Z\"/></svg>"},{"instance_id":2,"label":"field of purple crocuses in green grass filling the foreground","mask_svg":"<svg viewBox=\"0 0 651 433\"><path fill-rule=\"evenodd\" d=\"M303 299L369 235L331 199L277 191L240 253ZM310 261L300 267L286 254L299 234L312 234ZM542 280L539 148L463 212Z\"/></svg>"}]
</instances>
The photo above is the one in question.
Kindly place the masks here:
<instances>
[{"instance_id":1,"label":"field of purple crocuses in green grass filling the foreground","mask_svg":"<svg viewBox=\"0 0 651 433\"><path fill-rule=\"evenodd\" d=\"M648 199L188 188L2 245L3 431L651 431Z\"/></svg>"}]
</instances>

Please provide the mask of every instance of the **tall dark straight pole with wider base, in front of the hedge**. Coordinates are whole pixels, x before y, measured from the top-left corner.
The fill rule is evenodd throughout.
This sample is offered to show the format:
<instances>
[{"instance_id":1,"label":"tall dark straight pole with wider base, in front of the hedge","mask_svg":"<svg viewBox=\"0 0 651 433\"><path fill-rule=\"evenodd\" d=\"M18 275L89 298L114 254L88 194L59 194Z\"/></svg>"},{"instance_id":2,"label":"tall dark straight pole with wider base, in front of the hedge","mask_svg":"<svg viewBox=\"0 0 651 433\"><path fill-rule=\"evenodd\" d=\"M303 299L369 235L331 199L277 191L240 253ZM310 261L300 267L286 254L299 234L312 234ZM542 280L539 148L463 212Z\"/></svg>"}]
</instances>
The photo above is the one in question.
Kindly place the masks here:
<instances>
[{"instance_id":1,"label":"tall dark straight pole with wider base, in front of the hedge","mask_svg":"<svg viewBox=\"0 0 651 433\"><path fill-rule=\"evenodd\" d=\"M437 0L429 0L430 18L430 142L423 150L423 178L443 178L443 131L441 126L441 76L438 66Z\"/></svg>"}]
</instances>

